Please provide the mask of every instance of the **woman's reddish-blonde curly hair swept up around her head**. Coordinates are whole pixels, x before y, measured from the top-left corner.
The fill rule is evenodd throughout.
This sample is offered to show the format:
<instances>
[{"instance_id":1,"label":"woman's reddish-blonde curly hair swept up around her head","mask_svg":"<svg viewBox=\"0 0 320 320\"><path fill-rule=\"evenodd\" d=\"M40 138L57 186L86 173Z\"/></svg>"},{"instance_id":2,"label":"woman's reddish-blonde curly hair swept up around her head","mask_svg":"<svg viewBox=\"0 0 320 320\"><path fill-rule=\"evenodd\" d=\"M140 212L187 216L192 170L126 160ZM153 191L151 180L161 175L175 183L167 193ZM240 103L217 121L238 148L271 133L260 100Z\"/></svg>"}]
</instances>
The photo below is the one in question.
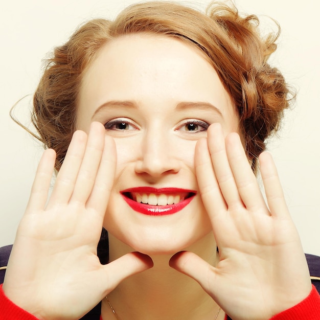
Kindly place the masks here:
<instances>
[{"instance_id":1,"label":"woman's reddish-blonde curly hair swept up around her head","mask_svg":"<svg viewBox=\"0 0 320 320\"><path fill-rule=\"evenodd\" d=\"M33 99L38 139L56 151L59 170L77 129L81 80L99 50L112 38L156 33L187 41L208 57L233 99L243 144L256 171L256 159L269 135L279 129L292 99L283 75L268 63L277 49L276 25L277 32L262 37L257 16L242 16L233 5L217 2L205 13L173 2L147 2L129 6L113 21L90 20L45 61Z\"/></svg>"}]
</instances>

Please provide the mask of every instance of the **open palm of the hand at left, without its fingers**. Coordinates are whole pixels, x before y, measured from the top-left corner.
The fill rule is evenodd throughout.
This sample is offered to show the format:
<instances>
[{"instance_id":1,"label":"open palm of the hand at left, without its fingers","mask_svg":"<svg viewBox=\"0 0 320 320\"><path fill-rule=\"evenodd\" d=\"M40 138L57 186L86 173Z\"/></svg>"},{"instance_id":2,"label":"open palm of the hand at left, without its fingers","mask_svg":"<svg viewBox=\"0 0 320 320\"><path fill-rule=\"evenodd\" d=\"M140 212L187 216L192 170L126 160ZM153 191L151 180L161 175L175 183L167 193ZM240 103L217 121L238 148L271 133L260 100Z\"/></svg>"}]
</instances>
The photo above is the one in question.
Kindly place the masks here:
<instances>
[{"instance_id":1,"label":"open palm of the hand at left, without its fingers","mask_svg":"<svg viewBox=\"0 0 320 320\"><path fill-rule=\"evenodd\" d=\"M20 259L22 250L27 255L15 283L24 284L24 292L36 292L39 303L48 309L58 311L59 306L60 313L53 318L61 318L62 314L77 318L97 304L107 286L101 285L101 281L107 281L107 273L96 254L101 218L94 210L77 207L80 205L72 209L53 207L27 215L14 244L13 253L17 252ZM70 308L70 301L84 300L84 292L92 293L79 304L81 310Z\"/></svg>"}]
</instances>

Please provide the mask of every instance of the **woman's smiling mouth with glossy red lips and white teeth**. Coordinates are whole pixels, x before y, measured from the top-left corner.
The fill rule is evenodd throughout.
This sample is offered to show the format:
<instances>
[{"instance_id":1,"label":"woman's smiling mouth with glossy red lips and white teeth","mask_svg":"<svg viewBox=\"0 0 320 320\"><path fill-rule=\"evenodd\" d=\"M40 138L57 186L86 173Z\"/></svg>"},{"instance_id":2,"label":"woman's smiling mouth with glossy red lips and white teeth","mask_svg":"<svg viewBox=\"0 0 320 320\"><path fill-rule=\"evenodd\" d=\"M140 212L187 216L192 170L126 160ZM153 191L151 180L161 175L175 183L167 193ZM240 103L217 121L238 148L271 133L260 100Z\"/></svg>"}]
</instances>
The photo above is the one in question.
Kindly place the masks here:
<instances>
[{"instance_id":1,"label":"woman's smiling mouth with glossy red lips and white teeth","mask_svg":"<svg viewBox=\"0 0 320 320\"><path fill-rule=\"evenodd\" d=\"M149 216L174 214L184 209L196 193L195 190L152 187L130 188L121 191L124 200L134 211ZM166 202L169 203L165 204Z\"/></svg>"}]
</instances>

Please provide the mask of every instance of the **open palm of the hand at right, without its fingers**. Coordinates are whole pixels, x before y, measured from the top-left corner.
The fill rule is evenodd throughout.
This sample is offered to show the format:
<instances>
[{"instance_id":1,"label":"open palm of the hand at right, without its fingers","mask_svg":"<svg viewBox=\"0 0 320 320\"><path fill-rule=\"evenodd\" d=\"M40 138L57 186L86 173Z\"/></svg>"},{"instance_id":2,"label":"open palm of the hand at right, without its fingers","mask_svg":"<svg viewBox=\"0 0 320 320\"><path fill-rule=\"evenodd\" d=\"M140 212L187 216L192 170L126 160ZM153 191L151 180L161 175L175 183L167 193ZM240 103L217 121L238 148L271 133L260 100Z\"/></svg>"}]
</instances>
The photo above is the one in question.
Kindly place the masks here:
<instances>
[{"instance_id":1,"label":"open palm of the hand at right, without its fingers","mask_svg":"<svg viewBox=\"0 0 320 320\"><path fill-rule=\"evenodd\" d=\"M290 220L250 212L238 212L236 218L229 215L215 233L220 261L206 290L234 319L268 319L286 308L287 291L294 298L300 296L300 284L295 289L294 281L303 283L308 277L299 238ZM213 223L219 225L219 219ZM226 294L220 295L223 290Z\"/></svg>"}]
</instances>

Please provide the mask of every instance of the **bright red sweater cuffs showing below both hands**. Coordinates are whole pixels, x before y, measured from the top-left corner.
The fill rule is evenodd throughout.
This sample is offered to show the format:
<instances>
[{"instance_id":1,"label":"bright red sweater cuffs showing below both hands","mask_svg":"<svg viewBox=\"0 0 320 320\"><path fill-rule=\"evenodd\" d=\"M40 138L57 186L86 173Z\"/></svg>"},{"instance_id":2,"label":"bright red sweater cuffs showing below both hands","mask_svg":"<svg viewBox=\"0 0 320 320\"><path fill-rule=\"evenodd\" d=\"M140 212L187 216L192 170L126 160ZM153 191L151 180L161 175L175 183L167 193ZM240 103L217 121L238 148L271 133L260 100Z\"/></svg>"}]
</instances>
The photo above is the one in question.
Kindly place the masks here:
<instances>
[{"instance_id":1,"label":"bright red sweater cuffs showing below both hands","mask_svg":"<svg viewBox=\"0 0 320 320\"><path fill-rule=\"evenodd\" d=\"M22 310L11 302L0 285L0 320L38 320L35 316ZM298 305L285 310L270 320L320 320L320 295L315 287L309 296Z\"/></svg>"}]
</instances>

